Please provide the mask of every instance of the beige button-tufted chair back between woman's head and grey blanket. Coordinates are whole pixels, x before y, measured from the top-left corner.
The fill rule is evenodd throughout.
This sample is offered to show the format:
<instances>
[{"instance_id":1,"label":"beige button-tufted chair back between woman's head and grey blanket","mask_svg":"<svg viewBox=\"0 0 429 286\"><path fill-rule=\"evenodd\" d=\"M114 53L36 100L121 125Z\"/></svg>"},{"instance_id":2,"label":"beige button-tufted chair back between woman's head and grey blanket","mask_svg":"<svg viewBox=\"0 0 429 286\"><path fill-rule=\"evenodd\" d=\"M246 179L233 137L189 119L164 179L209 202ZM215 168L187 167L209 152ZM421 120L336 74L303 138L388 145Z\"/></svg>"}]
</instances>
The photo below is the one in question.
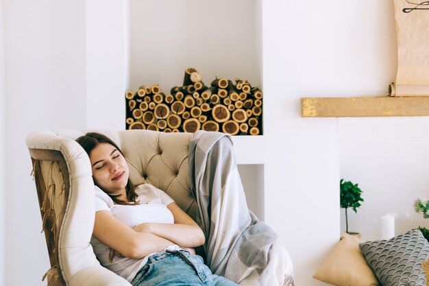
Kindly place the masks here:
<instances>
[{"instance_id":1,"label":"beige button-tufted chair back between woman's head and grey blanket","mask_svg":"<svg viewBox=\"0 0 429 286\"><path fill-rule=\"evenodd\" d=\"M189 184L188 163L192 135L151 130L119 132L121 150L127 158L134 186L143 183L154 185L195 219L197 202Z\"/></svg>"}]
</instances>

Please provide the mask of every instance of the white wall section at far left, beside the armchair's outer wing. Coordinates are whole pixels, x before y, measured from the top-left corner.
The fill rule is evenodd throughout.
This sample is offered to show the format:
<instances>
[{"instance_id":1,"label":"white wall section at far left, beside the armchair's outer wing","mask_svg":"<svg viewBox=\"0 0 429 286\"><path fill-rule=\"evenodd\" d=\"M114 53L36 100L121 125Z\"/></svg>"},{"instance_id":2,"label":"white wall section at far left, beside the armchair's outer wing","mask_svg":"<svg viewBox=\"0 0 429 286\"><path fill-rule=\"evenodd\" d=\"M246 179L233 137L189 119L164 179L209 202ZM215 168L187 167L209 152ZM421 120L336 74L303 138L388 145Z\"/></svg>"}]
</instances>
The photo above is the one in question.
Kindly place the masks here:
<instances>
[{"instance_id":1,"label":"white wall section at far left, beside the armchair's outer wing","mask_svg":"<svg viewBox=\"0 0 429 286\"><path fill-rule=\"evenodd\" d=\"M25 136L86 128L85 1L3 3L5 285L45 285L49 258Z\"/></svg>"}]
</instances>

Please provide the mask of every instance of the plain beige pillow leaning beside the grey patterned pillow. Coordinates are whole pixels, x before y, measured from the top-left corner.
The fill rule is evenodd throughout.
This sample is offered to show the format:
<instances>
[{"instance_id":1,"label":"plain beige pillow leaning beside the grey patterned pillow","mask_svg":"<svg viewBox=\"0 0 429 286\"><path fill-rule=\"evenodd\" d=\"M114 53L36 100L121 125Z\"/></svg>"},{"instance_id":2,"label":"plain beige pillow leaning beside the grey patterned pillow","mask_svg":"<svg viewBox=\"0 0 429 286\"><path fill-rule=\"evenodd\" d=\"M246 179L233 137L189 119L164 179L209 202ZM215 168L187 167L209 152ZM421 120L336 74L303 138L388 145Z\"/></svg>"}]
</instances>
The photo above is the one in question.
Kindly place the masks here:
<instances>
[{"instance_id":1,"label":"plain beige pillow leaning beside the grey patterned pillow","mask_svg":"<svg viewBox=\"0 0 429 286\"><path fill-rule=\"evenodd\" d=\"M360 252L361 242L358 237L342 233L341 240L313 278L337 286L380 285Z\"/></svg>"}]
</instances>

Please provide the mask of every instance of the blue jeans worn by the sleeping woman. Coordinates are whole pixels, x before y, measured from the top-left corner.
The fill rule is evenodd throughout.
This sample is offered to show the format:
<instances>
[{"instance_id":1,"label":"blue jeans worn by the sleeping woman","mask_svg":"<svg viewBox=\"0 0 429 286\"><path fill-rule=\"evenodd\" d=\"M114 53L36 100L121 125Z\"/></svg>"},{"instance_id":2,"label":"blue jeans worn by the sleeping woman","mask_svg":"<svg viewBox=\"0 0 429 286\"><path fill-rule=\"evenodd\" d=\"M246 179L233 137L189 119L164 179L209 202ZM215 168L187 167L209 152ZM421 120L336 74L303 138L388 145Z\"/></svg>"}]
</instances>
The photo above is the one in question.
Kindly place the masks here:
<instances>
[{"instance_id":1,"label":"blue jeans worn by the sleeping woman","mask_svg":"<svg viewBox=\"0 0 429 286\"><path fill-rule=\"evenodd\" d=\"M158 252L140 269L133 286L236 286L227 278L212 274L198 255L184 250Z\"/></svg>"}]
</instances>

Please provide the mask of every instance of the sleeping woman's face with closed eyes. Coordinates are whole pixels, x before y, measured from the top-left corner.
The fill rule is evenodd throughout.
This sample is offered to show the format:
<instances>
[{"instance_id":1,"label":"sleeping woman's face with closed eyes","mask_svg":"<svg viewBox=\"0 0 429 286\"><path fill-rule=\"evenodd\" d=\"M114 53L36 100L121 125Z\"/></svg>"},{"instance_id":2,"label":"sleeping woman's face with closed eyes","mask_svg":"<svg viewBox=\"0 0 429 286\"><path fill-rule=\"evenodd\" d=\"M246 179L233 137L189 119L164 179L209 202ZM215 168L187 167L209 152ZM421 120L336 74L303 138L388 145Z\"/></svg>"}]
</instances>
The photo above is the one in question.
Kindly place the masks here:
<instances>
[{"instance_id":1,"label":"sleeping woman's face with closed eyes","mask_svg":"<svg viewBox=\"0 0 429 286\"><path fill-rule=\"evenodd\" d=\"M95 184L106 193L125 193L128 176L127 161L116 147L109 143L99 143L89 154Z\"/></svg>"}]
</instances>

